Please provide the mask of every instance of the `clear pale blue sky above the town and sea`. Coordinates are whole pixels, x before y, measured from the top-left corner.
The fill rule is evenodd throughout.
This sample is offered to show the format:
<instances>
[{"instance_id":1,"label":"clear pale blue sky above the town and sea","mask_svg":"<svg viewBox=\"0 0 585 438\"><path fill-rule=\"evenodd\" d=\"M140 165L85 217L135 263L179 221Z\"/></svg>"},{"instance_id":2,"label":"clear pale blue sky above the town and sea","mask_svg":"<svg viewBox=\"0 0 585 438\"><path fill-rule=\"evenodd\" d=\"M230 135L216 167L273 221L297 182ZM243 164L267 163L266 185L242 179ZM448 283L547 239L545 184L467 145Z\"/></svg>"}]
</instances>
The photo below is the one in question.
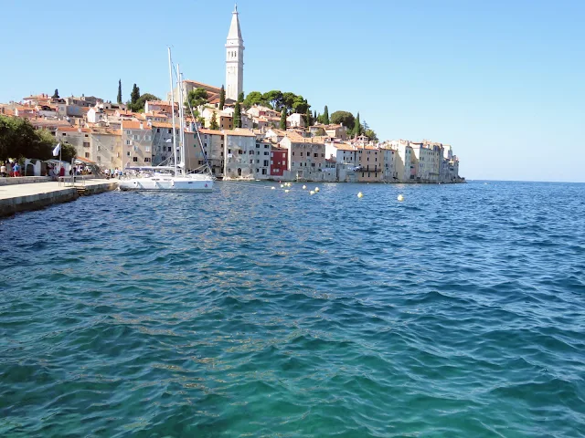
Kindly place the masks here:
<instances>
[{"instance_id":1,"label":"clear pale blue sky above the town and sea","mask_svg":"<svg viewBox=\"0 0 585 438\"><path fill-rule=\"evenodd\" d=\"M233 2L3 0L0 101L220 86ZM585 1L245 0L244 89L452 144L468 179L585 182Z\"/></svg>"}]
</instances>

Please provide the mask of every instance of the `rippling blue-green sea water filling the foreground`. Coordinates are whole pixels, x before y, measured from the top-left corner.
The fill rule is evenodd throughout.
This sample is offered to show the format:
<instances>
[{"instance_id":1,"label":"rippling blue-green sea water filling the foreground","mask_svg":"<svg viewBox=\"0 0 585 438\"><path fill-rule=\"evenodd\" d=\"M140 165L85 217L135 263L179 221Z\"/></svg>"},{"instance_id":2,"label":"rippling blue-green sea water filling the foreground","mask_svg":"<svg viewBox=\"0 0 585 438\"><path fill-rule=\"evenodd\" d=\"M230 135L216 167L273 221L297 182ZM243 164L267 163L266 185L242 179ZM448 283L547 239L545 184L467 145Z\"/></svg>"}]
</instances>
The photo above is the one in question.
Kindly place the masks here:
<instances>
[{"instance_id":1,"label":"rippling blue-green sea water filling the foreground","mask_svg":"<svg viewBox=\"0 0 585 438\"><path fill-rule=\"evenodd\" d=\"M585 436L585 184L320 188L0 221L0 436Z\"/></svg>"}]
</instances>

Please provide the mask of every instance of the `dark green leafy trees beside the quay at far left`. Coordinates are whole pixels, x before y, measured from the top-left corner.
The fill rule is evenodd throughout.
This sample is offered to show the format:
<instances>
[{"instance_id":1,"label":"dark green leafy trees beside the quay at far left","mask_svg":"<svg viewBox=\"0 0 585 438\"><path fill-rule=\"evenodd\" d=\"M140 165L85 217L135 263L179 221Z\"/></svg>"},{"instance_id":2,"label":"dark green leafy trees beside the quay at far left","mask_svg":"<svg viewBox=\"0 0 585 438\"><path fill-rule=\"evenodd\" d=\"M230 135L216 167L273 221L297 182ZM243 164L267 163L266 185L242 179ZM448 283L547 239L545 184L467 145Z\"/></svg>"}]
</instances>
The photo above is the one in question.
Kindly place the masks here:
<instances>
[{"instance_id":1,"label":"dark green leafy trees beside the quay at far left","mask_svg":"<svg viewBox=\"0 0 585 438\"><path fill-rule=\"evenodd\" d=\"M0 116L0 161L9 158L37 158L49 160L57 145L55 137L47 130L35 130L27 119ZM61 144L61 158L70 162L76 155L75 147Z\"/></svg>"}]
</instances>

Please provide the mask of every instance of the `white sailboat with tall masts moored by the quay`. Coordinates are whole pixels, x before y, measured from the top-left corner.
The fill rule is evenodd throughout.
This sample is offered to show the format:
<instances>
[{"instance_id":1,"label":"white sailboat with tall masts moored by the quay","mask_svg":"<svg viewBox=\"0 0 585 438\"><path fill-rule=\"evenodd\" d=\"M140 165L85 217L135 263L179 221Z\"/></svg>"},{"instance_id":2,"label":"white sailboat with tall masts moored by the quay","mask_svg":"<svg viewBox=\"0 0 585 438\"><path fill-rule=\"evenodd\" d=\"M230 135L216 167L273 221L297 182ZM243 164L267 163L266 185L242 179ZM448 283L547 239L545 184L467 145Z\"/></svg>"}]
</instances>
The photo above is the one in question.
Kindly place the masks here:
<instances>
[{"instance_id":1,"label":"white sailboat with tall masts moored by the quay","mask_svg":"<svg viewBox=\"0 0 585 438\"><path fill-rule=\"evenodd\" d=\"M177 82L179 93L179 144L176 145L176 123L175 123L175 93L173 80L173 64L171 61L171 48L168 48L168 68L171 82L171 112L173 114L173 166L141 166L126 167L126 172L133 172L133 176L122 178L118 187L122 191L172 191L172 192L211 192L213 190L214 177L207 162L207 153L203 150L203 142L199 136L197 125L195 130L199 145L205 158L204 173L186 172L186 154L185 154L185 122L183 102L183 87L181 87L181 74L177 66ZM190 107L189 107L190 108ZM177 151L180 151L180 157L177 157ZM180 161L179 161L180 160ZM138 172L138 173L137 173Z\"/></svg>"}]
</instances>

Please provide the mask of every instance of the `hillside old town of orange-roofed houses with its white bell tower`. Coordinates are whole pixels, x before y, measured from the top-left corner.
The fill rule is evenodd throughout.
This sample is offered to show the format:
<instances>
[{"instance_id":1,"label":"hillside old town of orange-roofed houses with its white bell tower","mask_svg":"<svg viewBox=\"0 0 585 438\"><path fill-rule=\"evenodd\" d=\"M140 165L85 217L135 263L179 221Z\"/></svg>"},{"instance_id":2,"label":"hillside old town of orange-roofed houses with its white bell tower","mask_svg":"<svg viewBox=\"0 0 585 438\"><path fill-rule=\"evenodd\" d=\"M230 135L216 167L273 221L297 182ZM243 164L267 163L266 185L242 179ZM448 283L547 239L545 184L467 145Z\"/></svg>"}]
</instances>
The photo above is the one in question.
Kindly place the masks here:
<instances>
[{"instance_id":1,"label":"hillside old town of orange-roofed houses with its white bell tower","mask_svg":"<svg viewBox=\"0 0 585 438\"><path fill-rule=\"evenodd\" d=\"M329 118L326 107L324 114L317 116L301 97L293 95L299 99L283 103L286 99L280 91L271 91L266 99L255 92L259 99L251 103L242 90L243 51L236 8L226 44L226 87L189 79L180 82L183 96L193 104L186 105L188 116L183 126L175 125L176 134L185 131L187 169L207 166L223 180L464 181L449 144L378 141L373 131L360 123L359 116L344 123L340 117L335 120L335 113ZM178 100L178 90L173 93ZM171 103L171 93L165 99L154 98L140 96L135 84L132 99L126 103L122 103L121 83L115 103L83 94L60 97L56 89L52 95L0 104L0 117L27 120L35 130L50 133L55 144L74 147L78 162L113 173L128 167L157 166L172 157L173 116L178 115L179 104Z\"/></svg>"}]
</instances>

